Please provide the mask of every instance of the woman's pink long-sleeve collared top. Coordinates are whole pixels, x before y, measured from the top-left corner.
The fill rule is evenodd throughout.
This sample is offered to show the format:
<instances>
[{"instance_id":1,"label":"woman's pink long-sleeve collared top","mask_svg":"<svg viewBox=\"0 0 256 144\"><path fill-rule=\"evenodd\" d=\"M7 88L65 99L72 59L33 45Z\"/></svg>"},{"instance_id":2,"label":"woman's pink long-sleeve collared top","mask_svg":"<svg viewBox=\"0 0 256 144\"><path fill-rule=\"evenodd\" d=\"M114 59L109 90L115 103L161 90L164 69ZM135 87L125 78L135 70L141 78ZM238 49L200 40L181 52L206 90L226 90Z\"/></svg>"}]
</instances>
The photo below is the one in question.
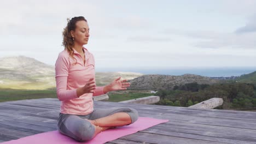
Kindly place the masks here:
<instances>
[{"instance_id":1,"label":"woman's pink long-sleeve collared top","mask_svg":"<svg viewBox=\"0 0 256 144\"><path fill-rule=\"evenodd\" d=\"M61 113L73 115L88 115L94 110L93 96L102 95L103 87L96 87L95 93L85 93L79 98L77 88L83 87L89 79L95 79L95 60L92 53L84 49L85 64L80 54L74 50L74 58L69 56L67 50L59 53L55 63L55 79L57 97L61 100Z\"/></svg>"}]
</instances>

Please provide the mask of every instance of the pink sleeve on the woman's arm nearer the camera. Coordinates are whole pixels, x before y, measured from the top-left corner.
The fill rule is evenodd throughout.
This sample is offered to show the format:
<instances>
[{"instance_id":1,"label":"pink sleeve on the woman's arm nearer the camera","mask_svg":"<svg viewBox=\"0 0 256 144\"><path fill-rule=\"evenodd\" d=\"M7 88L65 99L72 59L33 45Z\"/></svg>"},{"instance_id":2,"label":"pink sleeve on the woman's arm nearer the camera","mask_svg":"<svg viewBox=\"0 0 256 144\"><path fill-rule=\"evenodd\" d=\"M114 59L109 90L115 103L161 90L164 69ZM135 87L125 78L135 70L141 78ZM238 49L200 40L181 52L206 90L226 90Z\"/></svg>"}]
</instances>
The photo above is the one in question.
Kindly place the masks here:
<instances>
[{"instance_id":1,"label":"pink sleeve on the woman's arm nearer the camera","mask_svg":"<svg viewBox=\"0 0 256 144\"><path fill-rule=\"evenodd\" d=\"M78 98L77 89L67 90L68 68L68 58L60 54L55 63L55 79L57 97L61 101Z\"/></svg>"}]
</instances>

